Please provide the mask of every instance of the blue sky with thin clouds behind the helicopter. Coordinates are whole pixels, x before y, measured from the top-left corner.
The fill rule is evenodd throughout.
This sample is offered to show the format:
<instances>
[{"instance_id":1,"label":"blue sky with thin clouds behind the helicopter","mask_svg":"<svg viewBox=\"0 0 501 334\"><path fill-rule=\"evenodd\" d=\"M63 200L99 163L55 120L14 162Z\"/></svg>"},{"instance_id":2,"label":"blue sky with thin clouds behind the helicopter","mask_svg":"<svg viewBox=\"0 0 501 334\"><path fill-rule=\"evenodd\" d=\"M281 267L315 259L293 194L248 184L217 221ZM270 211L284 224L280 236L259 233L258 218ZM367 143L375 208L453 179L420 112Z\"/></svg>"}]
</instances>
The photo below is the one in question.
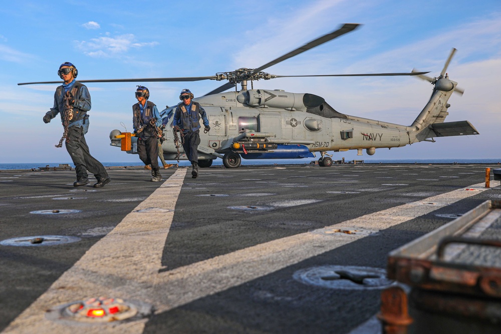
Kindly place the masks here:
<instances>
[{"instance_id":1,"label":"blue sky with thin clouds behind the helicopter","mask_svg":"<svg viewBox=\"0 0 501 334\"><path fill-rule=\"evenodd\" d=\"M257 68L344 23L362 24L265 71L275 75L410 72L447 68L464 94L449 100L446 122L468 120L477 136L436 138L378 149L374 159L501 159L501 1L269 0L262 1L25 1L0 6L0 163L71 163L55 145L58 118L45 124L64 62L78 79L213 76ZM132 130L136 85L159 110L179 102L182 89L202 96L221 82L86 84L92 97L86 135L102 162L139 162L109 145L113 129ZM254 88L320 95L337 111L410 125L432 86L414 77L278 78ZM332 154L333 152L329 152ZM357 151L333 159L368 159Z\"/></svg>"}]
</instances>

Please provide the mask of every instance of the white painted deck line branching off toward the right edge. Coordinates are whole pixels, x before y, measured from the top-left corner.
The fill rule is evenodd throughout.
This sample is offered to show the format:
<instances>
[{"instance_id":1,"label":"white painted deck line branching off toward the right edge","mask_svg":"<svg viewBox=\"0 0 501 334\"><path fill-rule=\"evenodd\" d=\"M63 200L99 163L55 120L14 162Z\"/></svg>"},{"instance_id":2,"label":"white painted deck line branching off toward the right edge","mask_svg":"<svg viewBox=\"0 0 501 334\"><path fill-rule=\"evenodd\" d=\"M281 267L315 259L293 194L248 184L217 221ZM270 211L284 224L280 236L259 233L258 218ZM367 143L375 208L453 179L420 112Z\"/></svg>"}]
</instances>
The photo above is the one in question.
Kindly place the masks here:
<instances>
[{"instance_id":1,"label":"white painted deck line branching off toward the right edge","mask_svg":"<svg viewBox=\"0 0 501 334\"><path fill-rule=\"evenodd\" d=\"M470 187L480 185L479 183ZM475 192L458 189L329 227L349 226L350 228L382 230L436 210L436 206L423 205L422 202L440 201L440 203L452 204L473 194ZM160 273L156 281L158 286L152 291L151 299L156 298L155 306L158 312L167 311L363 237L365 235L362 234L347 237L346 235L332 236L307 232L216 256Z\"/></svg>"}]
</instances>

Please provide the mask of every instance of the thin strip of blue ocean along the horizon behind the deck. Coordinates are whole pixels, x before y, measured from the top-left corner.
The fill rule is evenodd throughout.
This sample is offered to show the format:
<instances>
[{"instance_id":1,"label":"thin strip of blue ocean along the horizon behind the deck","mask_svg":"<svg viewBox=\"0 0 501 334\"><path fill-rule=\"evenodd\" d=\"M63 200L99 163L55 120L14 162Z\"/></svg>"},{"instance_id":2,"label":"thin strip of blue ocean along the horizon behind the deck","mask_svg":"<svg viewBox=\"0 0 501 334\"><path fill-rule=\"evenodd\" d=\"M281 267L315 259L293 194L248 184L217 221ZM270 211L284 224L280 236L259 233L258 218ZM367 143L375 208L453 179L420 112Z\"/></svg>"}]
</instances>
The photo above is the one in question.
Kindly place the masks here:
<instances>
[{"instance_id":1,"label":"thin strip of blue ocean along the horizon behind the deck","mask_svg":"<svg viewBox=\"0 0 501 334\"><path fill-rule=\"evenodd\" d=\"M245 160L242 159L242 166L249 165L305 165L310 164L315 159L268 159L268 160ZM357 160L358 161L358 160ZM365 164L492 164L499 165L501 159L392 159L392 160L378 160L378 159L364 159ZM346 160L346 163L349 161ZM168 161L168 163L176 163L175 161ZM29 162L29 163L0 163L0 170L8 169L38 169L39 167L58 167L60 164L68 164L75 167L73 163L63 161L60 163L47 163L47 162ZM141 161L137 162L103 162L105 167L112 166L144 166ZM180 161L179 166L189 166L189 161ZM222 165L222 160L214 160L212 166Z\"/></svg>"}]
</instances>

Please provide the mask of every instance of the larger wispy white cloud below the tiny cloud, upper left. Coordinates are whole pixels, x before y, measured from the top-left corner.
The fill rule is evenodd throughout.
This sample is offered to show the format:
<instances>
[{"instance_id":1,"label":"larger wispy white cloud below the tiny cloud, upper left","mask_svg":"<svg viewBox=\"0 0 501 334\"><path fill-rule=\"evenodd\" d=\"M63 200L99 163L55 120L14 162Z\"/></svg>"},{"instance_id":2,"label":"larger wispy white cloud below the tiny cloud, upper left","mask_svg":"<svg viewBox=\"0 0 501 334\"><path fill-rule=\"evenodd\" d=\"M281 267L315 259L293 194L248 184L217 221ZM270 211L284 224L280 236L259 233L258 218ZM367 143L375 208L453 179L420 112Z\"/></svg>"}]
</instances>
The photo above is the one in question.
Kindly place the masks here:
<instances>
[{"instance_id":1,"label":"larger wispy white cloud below the tiny cloud, upper left","mask_svg":"<svg viewBox=\"0 0 501 334\"><path fill-rule=\"evenodd\" d=\"M82 50L87 56L94 58L116 57L125 54L130 49L141 47L153 47L158 42L137 43L134 34L124 34L115 37L106 36L93 38L89 42L76 41L78 49Z\"/></svg>"}]
</instances>

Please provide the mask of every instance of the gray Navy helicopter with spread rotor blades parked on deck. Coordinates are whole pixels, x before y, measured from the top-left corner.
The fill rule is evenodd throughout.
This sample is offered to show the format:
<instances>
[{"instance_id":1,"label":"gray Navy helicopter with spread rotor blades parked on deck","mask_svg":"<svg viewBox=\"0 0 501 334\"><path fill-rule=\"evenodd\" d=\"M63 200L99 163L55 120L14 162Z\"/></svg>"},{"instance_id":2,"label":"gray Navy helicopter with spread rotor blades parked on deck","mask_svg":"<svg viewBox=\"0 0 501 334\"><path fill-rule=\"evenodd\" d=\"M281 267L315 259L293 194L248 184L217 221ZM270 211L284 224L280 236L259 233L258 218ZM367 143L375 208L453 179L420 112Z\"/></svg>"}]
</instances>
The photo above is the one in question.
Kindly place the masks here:
<instances>
[{"instance_id":1,"label":"gray Navy helicopter with spread rotor blades parked on deck","mask_svg":"<svg viewBox=\"0 0 501 334\"><path fill-rule=\"evenodd\" d=\"M444 122L448 115L447 103L453 92L462 94L457 83L450 80L446 70L454 55L452 49L438 77L425 76L429 72L412 70L410 73L378 74L325 74L280 76L263 72L264 69L307 50L331 41L359 27L345 24L338 30L324 35L256 69L241 68L232 72L217 73L208 77L143 78L79 80L96 82L190 82L200 80L227 80L221 87L205 96L194 98L207 113L210 131L200 133L198 165L210 167L212 161L221 158L227 168L237 168L243 159L299 159L315 157L319 152L319 166L329 167L333 160L328 151L340 152L366 150L373 155L378 148L402 147L421 141L435 142L435 137L476 135L478 132L468 121ZM337 112L322 97L309 93L289 93L283 90L254 89L254 81L286 77L355 77L355 76L417 76L433 85L430 100L409 125L371 120ZM250 81L251 89L247 89ZM26 84L48 84L38 82ZM240 84L238 91L236 85ZM224 92L230 88L235 91ZM182 146L176 146L172 130L172 115L177 105L160 112L168 118L163 131L162 144L165 160L187 160ZM130 154L136 152L134 134L113 130L112 146L121 147Z\"/></svg>"}]
</instances>

